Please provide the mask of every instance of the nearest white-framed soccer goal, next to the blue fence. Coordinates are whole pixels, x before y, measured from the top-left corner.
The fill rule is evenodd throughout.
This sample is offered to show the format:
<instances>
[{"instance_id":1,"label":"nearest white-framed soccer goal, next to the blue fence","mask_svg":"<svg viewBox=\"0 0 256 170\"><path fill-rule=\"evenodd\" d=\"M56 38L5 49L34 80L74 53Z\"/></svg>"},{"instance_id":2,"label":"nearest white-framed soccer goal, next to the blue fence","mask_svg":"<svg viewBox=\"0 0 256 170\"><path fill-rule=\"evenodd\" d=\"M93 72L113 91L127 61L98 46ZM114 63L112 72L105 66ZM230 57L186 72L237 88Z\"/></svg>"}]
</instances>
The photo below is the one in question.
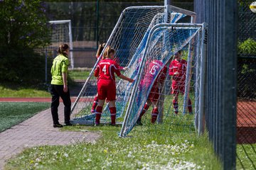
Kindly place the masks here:
<instances>
[{"instance_id":1,"label":"nearest white-framed soccer goal, next to the blue fence","mask_svg":"<svg viewBox=\"0 0 256 170\"><path fill-rule=\"evenodd\" d=\"M145 109L145 103L153 103L151 101L152 98L149 97L152 93L151 89L155 86L154 82L159 81L157 77L161 70L165 66L169 67L169 64L175 60L174 55L181 50L183 58L186 59L186 62L181 66L184 67L182 77L171 79L171 81L167 81L165 78L162 89L156 92L161 96L156 101L156 106L158 106L159 110L161 109L162 113L156 112L159 119L153 126L155 130L159 131L170 131L172 127L179 126L179 130L182 132L193 130L193 120L195 120L196 129L201 132L203 128L202 115L205 86L205 35L206 24L160 23L151 28L142 57L137 60L137 63L139 63L137 78L131 89L122 130L119 134L121 137L128 135L132 128L134 128L139 115ZM154 67L152 63L156 61L158 64ZM154 76L149 76L152 72L154 72ZM168 74L169 72L167 72L166 77ZM174 81L176 86L178 84L178 92L181 93L175 101L176 106L178 107L179 105L181 108L179 110L177 108L176 111L173 111L176 107L173 102L174 95L176 94L173 85ZM166 94L163 90L165 84L170 82L172 83L174 94ZM149 85L147 86L146 84ZM160 86L157 86L157 88L160 88ZM192 108L192 102L194 108ZM159 103L162 103L162 105ZM189 107L191 107L191 115L188 114ZM178 111L181 111L181 113L178 113ZM195 112L196 118L192 111ZM152 120L153 116L154 112L142 118L144 119L144 130L147 132L150 131L149 127L152 128L150 119ZM177 130L178 128L174 129Z\"/></svg>"}]
</instances>

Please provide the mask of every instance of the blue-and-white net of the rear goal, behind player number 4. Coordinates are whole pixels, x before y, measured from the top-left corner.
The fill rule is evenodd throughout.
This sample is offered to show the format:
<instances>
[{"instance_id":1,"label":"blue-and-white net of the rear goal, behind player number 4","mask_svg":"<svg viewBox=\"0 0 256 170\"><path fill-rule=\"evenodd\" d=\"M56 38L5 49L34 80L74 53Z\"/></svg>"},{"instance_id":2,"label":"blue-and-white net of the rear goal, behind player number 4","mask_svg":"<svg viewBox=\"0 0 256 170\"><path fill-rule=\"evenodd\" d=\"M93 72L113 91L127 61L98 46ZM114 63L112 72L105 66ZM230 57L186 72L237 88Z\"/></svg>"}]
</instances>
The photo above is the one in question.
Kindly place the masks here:
<instances>
[{"instance_id":1,"label":"blue-and-white net of the rear goal, behind player number 4","mask_svg":"<svg viewBox=\"0 0 256 170\"><path fill-rule=\"evenodd\" d=\"M169 11L169 22L176 23L183 18L182 13L171 13ZM121 67L126 67L122 74L135 79L137 77L138 61L144 54L146 41L149 38L149 31L156 24L164 23L164 6L140 6L129 7L122 12L122 15L114 28L107 44L116 50L116 61ZM95 64L97 65L97 63ZM94 70L92 69L92 72ZM90 80L80 92L77 102L73 106L75 118L73 123L82 121L93 121L95 114L91 113L92 105L97 94L97 79L90 74ZM127 108L127 101L131 95L134 84L117 79L117 121L122 122L124 110ZM110 111L107 105L102 112L101 121L110 122Z\"/></svg>"}]
</instances>

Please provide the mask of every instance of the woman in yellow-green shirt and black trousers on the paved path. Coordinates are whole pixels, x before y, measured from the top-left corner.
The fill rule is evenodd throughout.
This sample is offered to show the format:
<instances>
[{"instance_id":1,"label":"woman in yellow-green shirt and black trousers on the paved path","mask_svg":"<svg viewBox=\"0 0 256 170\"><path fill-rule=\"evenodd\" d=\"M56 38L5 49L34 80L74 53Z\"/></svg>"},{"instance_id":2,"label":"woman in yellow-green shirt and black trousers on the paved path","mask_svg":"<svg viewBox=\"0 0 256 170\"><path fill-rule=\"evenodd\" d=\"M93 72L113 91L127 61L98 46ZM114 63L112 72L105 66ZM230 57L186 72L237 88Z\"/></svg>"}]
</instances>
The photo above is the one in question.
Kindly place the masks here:
<instances>
[{"instance_id":1,"label":"woman in yellow-green shirt and black trousers on the paved path","mask_svg":"<svg viewBox=\"0 0 256 170\"><path fill-rule=\"evenodd\" d=\"M63 99L64 119L65 125L72 125L70 123L71 100L70 91L68 89L68 45L63 44L58 48L58 56L53 60L53 66L50 73L52 74L52 81L50 82L50 94L52 95L51 114L53 116L53 128L62 128L58 121L58 106L60 104L60 97Z\"/></svg>"}]
</instances>

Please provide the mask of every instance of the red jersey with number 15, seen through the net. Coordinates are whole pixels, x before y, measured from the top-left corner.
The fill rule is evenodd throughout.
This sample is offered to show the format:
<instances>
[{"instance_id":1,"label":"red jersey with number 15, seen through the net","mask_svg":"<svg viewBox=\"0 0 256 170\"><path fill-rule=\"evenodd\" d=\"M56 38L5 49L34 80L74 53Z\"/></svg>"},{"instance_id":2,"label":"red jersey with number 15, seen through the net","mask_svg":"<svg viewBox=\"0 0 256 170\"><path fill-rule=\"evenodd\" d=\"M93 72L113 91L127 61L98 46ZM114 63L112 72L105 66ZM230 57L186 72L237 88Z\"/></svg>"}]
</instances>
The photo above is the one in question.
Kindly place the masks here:
<instances>
[{"instance_id":1,"label":"red jersey with number 15, seen through the net","mask_svg":"<svg viewBox=\"0 0 256 170\"><path fill-rule=\"evenodd\" d=\"M148 65L146 63L146 65ZM150 86L151 82L156 77L156 74L160 71L161 67L163 66L163 62L159 60L153 60L149 63L149 66L146 68L144 79L142 80L142 86ZM164 80L166 79L167 74L167 67L164 66L163 69L161 69L159 75L156 77L156 80L154 81L154 87L158 87L159 83L164 83Z\"/></svg>"}]
</instances>

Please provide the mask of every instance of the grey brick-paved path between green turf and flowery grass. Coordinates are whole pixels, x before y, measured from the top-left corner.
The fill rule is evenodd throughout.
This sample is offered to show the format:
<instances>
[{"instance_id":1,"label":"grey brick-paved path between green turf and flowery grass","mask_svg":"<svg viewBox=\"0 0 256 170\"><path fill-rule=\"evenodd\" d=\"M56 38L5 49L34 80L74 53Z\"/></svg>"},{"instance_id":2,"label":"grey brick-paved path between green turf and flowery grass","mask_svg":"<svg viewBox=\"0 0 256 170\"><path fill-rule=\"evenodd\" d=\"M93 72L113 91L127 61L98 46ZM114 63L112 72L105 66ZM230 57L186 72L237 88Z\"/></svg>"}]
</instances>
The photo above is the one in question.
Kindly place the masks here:
<instances>
[{"instance_id":1,"label":"grey brick-paved path between green turf and flowery grass","mask_svg":"<svg viewBox=\"0 0 256 170\"><path fill-rule=\"evenodd\" d=\"M14 101L14 98L12 99ZM11 101L11 98L9 98L9 101ZM63 123L64 120L63 110L63 103L60 103L58 111L60 123ZM58 128L53 128L53 120L49 108L18 125L14 125L12 128L0 132L0 170L4 169L4 164L8 159L27 147L70 145L76 142L94 143L99 137L100 135L95 132L60 131Z\"/></svg>"}]
</instances>

